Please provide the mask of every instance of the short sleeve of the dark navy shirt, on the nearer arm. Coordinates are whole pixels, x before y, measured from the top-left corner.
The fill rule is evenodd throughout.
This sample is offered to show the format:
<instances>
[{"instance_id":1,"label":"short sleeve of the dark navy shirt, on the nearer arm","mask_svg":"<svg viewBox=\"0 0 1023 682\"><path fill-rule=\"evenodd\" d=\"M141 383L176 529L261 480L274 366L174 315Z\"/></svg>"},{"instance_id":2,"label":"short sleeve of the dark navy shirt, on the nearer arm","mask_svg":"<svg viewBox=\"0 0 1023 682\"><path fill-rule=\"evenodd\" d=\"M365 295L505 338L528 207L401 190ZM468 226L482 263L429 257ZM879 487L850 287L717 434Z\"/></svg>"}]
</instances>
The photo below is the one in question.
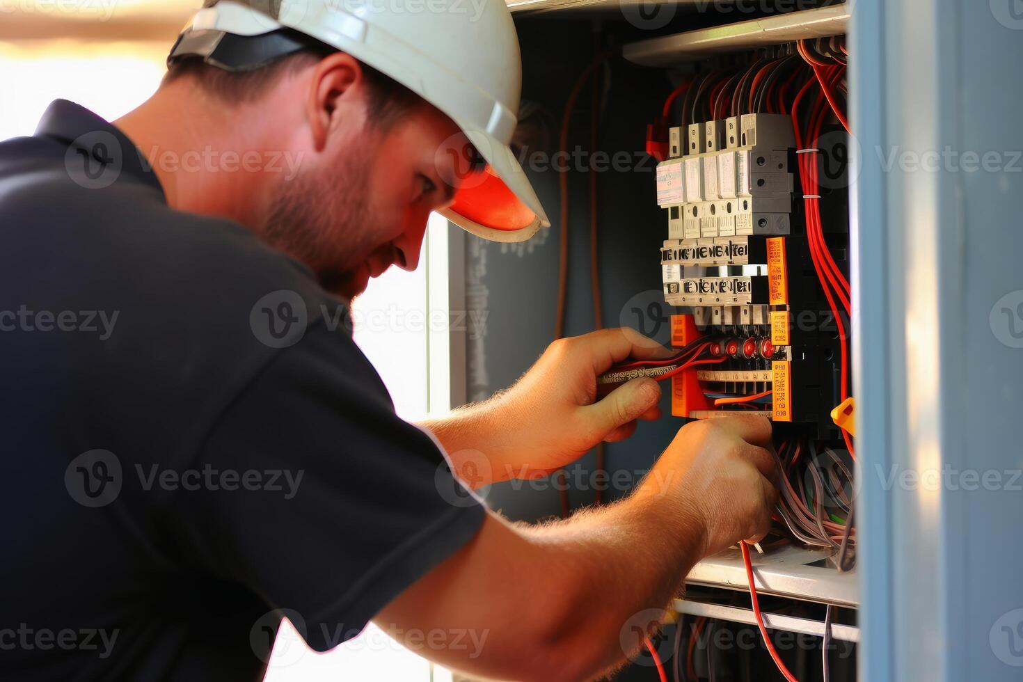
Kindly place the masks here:
<instances>
[{"instance_id":1,"label":"short sleeve of the dark navy shirt, on the nearer arm","mask_svg":"<svg viewBox=\"0 0 1023 682\"><path fill-rule=\"evenodd\" d=\"M469 542L486 513L432 438L395 415L354 342L322 325L254 377L195 468L201 489L175 501L189 558L297 615L320 651Z\"/></svg>"}]
</instances>

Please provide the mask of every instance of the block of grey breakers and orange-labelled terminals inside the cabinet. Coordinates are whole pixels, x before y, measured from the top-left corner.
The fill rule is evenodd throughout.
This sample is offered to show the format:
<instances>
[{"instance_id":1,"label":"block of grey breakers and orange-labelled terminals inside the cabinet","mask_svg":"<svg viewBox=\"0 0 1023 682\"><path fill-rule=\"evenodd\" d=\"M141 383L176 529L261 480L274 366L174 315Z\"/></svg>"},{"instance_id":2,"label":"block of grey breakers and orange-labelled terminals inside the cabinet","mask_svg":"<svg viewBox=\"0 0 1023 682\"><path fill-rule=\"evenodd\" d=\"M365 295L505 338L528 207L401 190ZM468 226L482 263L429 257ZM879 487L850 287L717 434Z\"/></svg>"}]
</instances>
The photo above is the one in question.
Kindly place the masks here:
<instances>
[{"instance_id":1,"label":"block of grey breakers and orange-labelled terminals inside the cabinet","mask_svg":"<svg viewBox=\"0 0 1023 682\"><path fill-rule=\"evenodd\" d=\"M659 259L664 299L684 311L672 319L673 344L709 338L708 353L718 361L672 377L673 414L699 418L761 406L775 422L838 439L831 411L843 400L845 321L830 310L809 253L802 186L793 173L806 150L796 148L792 117L696 123L672 128L670 139L678 142L658 165L656 182L668 224ZM824 153L841 157L834 149ZM829 215L843 215L835 203L846 201L844 193L830 195ZM830 228L847 233L845 224L832 221ZM847 253L833 249L843 271ZM743 396L759 397L724 402Z\"/></svg>"}]
</instances>

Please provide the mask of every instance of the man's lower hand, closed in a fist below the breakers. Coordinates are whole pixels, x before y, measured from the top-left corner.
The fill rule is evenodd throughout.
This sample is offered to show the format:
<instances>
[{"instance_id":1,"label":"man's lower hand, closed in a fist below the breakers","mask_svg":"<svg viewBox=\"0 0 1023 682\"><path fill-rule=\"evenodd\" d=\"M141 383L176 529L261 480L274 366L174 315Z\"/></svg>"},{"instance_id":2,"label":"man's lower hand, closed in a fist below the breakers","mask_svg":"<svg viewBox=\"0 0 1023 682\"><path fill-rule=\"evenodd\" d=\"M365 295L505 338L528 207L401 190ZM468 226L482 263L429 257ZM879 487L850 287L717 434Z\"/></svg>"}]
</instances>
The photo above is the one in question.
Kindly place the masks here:
<instances>
[{"instance_id":1,"label":"man's lower hand, closed in a fist below the breakers","mask_svg":"<svg viewBox=\"0 0 1023 682\"><path fill-rule=\"evenodd\" d=\"M777 502L771 424L765 417L736 414L693 421L643 481L638 494L664 496L681 505L703 542L701 556L740 540L759 542Z\"/></svg>"}]
</instances>

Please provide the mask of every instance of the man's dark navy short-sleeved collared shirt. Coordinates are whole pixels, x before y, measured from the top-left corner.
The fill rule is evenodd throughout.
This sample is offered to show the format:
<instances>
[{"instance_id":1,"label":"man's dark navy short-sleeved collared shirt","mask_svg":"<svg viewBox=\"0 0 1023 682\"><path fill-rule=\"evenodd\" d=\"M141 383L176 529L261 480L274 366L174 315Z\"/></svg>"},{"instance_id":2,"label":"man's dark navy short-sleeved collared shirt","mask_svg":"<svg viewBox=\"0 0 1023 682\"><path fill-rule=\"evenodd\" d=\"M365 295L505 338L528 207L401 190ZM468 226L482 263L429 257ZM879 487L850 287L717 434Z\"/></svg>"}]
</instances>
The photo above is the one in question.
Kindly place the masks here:
<instances>
[{"instance_id":1,"label":"man's dark navy short-sleeved collared shirt","mask_svg":"<svg viewBox=\"0 0 1023 682\"><path fill-rule=\"evenodd\" d=\"M257 679L476 534L348 319L86 109L0 143L0 678Z\"/></svg>"}]
</instances>

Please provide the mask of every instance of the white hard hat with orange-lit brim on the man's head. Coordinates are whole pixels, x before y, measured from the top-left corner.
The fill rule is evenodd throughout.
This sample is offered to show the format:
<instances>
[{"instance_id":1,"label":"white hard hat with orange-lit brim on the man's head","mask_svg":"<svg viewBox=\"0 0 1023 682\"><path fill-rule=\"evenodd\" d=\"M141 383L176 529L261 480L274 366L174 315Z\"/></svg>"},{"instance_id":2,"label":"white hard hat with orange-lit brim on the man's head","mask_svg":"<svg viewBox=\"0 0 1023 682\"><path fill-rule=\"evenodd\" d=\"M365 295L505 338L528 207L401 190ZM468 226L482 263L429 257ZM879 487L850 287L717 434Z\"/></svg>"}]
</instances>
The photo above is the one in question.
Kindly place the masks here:
<instances>
[{"instance_id":1,"label":"white hard hat with orange-lit brim on the man's head","mask_svg":"<svg viewBox=\"0 0 1023 682\"><path fill-rule=\"evenodd\" d=\"M454 202L441 212L451 222L495 241L523 241L550 225L508 147L518 123L522 62L504 0L206 0L206 5L185 27L170 60L202 56L225 66L228 36L286 43L281 30L291 29L314 38L443 111L486 161L484 171L458 183ZM244 53L252 67L288 50L264 45L234 51Z\"/></svg>"}]
</instances>

